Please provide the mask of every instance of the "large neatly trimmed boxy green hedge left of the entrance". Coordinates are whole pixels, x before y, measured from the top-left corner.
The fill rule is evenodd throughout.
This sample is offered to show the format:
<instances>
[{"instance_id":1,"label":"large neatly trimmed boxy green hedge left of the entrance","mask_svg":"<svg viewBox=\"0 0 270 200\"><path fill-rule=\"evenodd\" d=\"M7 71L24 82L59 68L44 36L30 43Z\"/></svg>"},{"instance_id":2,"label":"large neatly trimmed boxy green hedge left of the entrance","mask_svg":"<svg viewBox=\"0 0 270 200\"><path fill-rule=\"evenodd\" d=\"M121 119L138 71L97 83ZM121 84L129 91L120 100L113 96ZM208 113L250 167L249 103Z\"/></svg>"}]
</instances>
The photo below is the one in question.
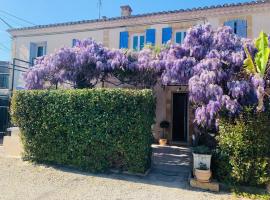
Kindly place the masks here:
<instances>
[{"instance_id":1,"label":"large neatly trimmed boxy green hedge left of the entrance","mask_svg":"<svg viewBox=\"0 0 270 200\"><path fill-rule=\"evenodd\" d=\"M28 160L93 172L150 167L151 90L20 91L11 111Z\"/></svg>"}]
</instances>

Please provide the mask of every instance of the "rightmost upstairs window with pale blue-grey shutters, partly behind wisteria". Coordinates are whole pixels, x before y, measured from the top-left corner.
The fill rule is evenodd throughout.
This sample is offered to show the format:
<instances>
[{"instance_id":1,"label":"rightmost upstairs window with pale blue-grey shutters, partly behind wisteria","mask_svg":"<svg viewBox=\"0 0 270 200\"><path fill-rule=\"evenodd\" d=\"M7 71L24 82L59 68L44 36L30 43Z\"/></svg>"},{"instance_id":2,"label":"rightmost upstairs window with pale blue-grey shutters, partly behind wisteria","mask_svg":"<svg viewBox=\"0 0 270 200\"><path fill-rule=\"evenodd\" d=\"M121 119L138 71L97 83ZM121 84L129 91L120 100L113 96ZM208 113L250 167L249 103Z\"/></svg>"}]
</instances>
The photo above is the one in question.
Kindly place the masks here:
<instances>
[{"instance_id":1,"label":"rightmost upstairs window with pale blue-grey shutters, partly behind wisteria","mask_svg":"<svg viewBox=\"0 0 270 200\"><path fill-rule=\"evenodd\" d=\"M247 37L247 20L234 19L224 23L225 26L230 26L235 34L240 37Z\"/></svg>"}]
</instances>

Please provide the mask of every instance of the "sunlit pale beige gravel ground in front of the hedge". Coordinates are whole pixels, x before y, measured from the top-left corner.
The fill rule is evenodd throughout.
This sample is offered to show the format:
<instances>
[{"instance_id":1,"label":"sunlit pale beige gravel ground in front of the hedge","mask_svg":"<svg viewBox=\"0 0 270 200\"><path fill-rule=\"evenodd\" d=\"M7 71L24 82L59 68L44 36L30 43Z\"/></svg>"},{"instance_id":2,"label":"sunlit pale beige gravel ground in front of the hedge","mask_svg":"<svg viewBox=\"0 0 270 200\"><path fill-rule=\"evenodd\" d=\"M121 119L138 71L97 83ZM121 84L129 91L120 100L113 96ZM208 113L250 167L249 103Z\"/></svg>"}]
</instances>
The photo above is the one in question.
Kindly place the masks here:
<instances>
[{"instance_id":1,"label":"sunlit pale beige gravel ground in front of the hedge","mask_svg":"<svg viewBox=\"0 0 270 200\"><path fill-rule=\"evenodd\" d=\"M0 147L0 199L219 200L234 199L136 176L95 175L5 158Z\"/></svg>"}]
</instances>

